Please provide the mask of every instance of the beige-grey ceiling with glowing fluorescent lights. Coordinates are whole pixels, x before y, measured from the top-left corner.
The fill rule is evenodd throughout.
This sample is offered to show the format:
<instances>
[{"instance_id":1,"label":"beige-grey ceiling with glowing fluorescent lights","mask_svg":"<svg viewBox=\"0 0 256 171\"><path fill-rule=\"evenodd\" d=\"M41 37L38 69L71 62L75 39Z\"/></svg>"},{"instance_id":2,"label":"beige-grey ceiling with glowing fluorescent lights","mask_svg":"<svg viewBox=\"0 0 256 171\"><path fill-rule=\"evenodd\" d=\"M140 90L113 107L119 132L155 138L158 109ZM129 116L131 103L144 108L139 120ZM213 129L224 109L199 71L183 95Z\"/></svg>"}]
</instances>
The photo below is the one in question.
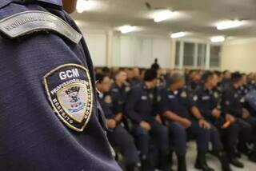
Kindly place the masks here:
<instances>
[{"instance_id":1,"label":"beige-grey ceiling with glowing fluorescent lights","mask_svg":"<svg viewBox=\"0 0 256 171\"><path fill-rule=\"evenodd\" d=\"M225 35L256 36L256 0L89 0L94 7L72 14L81 26L109 28L139 26L140 33L170 34L186 31L193 37ZM146 8L149 2L151 10ZM154 9L174 10L177 14L164 22L154 22ZM246 25L230 30L217 30L216 22L246 20Z\"/></svg>"}]
</instances>

